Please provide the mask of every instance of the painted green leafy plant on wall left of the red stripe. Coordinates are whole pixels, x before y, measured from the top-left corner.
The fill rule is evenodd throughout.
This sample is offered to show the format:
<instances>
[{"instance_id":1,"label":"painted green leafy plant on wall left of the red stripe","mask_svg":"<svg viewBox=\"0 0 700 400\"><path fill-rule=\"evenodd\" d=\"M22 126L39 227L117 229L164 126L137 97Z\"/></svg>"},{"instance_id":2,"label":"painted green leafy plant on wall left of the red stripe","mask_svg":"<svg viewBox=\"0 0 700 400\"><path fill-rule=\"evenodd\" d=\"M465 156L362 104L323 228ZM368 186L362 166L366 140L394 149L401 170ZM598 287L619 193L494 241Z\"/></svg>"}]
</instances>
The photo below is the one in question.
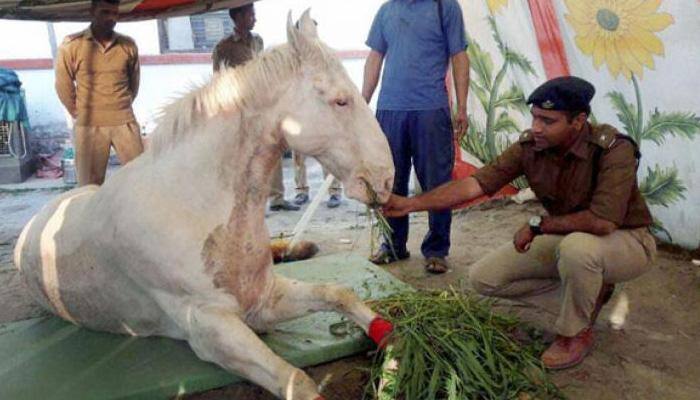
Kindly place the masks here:
<instances>
[{"instance_id":1,"label":"painted green leafy plant on wall left of the red stripe","mask_svg":"<svg viewBox=\"0 0 700 400\"><path fill-rule=\"evenodd\" d=\"M486 115L486 122L481 123L470 115L468 132L462 137L460 143L462 148L484 164L490 163L510 146L509 134L518 134L522 131L509 112L519 112L523 115L529 112L523 90L515 84L504 87L505 77L513 69L536 75L530 60L508 47L503 41L493 16L489 16L488 21L503 62L497 66L498 69L495 69L496 65L491 55L478 43L469 39L467 54L472 76L469 89L479 100ZM527 187L527 182L519 178L514 185L522 189Z\"/></svg>"}]
</instances>

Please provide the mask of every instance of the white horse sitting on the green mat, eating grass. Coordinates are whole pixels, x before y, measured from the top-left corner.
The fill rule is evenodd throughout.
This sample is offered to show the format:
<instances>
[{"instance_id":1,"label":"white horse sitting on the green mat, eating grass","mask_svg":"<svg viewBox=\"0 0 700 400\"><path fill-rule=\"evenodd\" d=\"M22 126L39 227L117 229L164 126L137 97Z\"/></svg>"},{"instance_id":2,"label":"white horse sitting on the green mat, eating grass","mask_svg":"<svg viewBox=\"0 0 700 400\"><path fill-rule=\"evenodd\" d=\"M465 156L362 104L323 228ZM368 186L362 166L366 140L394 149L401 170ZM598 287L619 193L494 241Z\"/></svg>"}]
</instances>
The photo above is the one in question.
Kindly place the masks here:
<instances>
[{"instance_id":1,"label":"white horse sitting on the green mat, eating grass","mask_svg":"<svg viewBox=\"0 0 700 400\"><path fill-rule=\"evenodd\" d=\"M287 146L348 196L386 201L394 168L372 112L308 15L288 43L228 69L166 109L151 148L102 187L67 192L25 226L15 265L34 297L91 329L189 342L198 357L280 398L314 382L254 332L319 310L376 342L390 324L355 293L272 272L265 202Z\"/></svg>"}]
</instances>

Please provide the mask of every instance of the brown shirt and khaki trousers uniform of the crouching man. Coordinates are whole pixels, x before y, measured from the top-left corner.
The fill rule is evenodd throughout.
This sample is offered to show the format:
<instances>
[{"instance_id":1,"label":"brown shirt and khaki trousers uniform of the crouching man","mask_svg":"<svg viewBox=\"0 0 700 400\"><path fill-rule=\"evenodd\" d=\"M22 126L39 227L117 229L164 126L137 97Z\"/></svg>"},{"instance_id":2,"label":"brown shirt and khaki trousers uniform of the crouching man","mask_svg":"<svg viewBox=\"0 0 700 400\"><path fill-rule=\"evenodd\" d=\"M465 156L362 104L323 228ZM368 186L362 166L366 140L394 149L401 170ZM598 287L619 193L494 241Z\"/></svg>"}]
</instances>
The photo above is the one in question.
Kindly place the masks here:
<instances>
[{"instance_id":1,"label":"brown shirt and khaki trousers uniform of the crouching man","mask_svg":"<svg viewBox=\"0 0 700 400\"><path fill-rule=\"evenodd\" d=\"M561 285L557 332L574 336L588 326L601 285L636 278L656 257L652 217L637 186L636 151L609 125L587 125L563 156L535 150L526 131L477 171L474 178L487 194L525 175L550 215L589 210L619 229L606 236L540 235L523 254L504 244L472 267L472 286L489 296L521 297Z\"/></svg>"}]
</instances>

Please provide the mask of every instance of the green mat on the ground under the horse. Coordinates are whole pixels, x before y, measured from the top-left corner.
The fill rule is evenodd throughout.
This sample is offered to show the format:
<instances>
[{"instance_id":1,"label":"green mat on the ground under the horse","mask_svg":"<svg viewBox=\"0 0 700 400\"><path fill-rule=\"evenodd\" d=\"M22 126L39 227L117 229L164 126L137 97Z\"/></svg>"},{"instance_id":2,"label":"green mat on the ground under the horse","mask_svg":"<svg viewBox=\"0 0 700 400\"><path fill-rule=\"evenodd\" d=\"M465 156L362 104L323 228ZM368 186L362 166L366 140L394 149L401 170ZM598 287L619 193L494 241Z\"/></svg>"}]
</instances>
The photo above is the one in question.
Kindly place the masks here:
<instances>
[{"instance_id":1,"label":"green mat on the ground under the horse","mask_svg":"<svg viewBox=\"0 0 700 400\"><path fill-rule=\"evenodd\" d=\"M363 299L406 288L366 259L348 254L275 267L281 275L353 287ZM334 336L335 313L280 324L263 340L300 367L367 351L361 331ZM0 326L0 399L166 399L242 379L199 360L186 342L134 338L78 328L56 317Z\"/></svg>"}]
</instances>

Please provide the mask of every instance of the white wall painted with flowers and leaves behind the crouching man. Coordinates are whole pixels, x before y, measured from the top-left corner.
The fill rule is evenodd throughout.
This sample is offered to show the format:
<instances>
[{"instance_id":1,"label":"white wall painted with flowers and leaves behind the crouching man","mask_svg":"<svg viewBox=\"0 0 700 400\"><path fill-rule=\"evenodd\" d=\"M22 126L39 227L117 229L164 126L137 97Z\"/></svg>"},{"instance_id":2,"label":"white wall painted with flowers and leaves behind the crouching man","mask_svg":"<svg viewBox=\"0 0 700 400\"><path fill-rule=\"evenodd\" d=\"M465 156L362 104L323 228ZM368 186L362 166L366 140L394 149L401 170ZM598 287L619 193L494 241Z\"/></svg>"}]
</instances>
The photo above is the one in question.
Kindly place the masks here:
<instances>
[{"instance_id":1,"label":"white wall painted with flowers and leaves behind the crouching man","mask_svg":"<svg viewBox=\"0 0 700 400\"><path fill-rule=\"evenodd\" d=\"M469 147L483 158L498 153L530 123L526 97L546 80L529 3L549 0L460 0L473 39ZM642 150L638 176L654 217L673 242L700 245L700 2L551 0L549 22L560 27L566 67L597 88L594 117L635 137ZM490 22L492 21L492 22ZM504 47L511 57L504 58ZM514 56L514 57L513 57ZM475 85L505 78L496 93L510 99L488 111ZM491 87L491 86L489 86ZM639 113L637 107L639 107ZM504 115L501 119L501 114ZM486 140L488 139L488 140ZM481 146L486 143L487 146ZM488 145L491 146L489 151ZM657 236L669 235L657 230Z\"/></svg>"}]
</instances>

